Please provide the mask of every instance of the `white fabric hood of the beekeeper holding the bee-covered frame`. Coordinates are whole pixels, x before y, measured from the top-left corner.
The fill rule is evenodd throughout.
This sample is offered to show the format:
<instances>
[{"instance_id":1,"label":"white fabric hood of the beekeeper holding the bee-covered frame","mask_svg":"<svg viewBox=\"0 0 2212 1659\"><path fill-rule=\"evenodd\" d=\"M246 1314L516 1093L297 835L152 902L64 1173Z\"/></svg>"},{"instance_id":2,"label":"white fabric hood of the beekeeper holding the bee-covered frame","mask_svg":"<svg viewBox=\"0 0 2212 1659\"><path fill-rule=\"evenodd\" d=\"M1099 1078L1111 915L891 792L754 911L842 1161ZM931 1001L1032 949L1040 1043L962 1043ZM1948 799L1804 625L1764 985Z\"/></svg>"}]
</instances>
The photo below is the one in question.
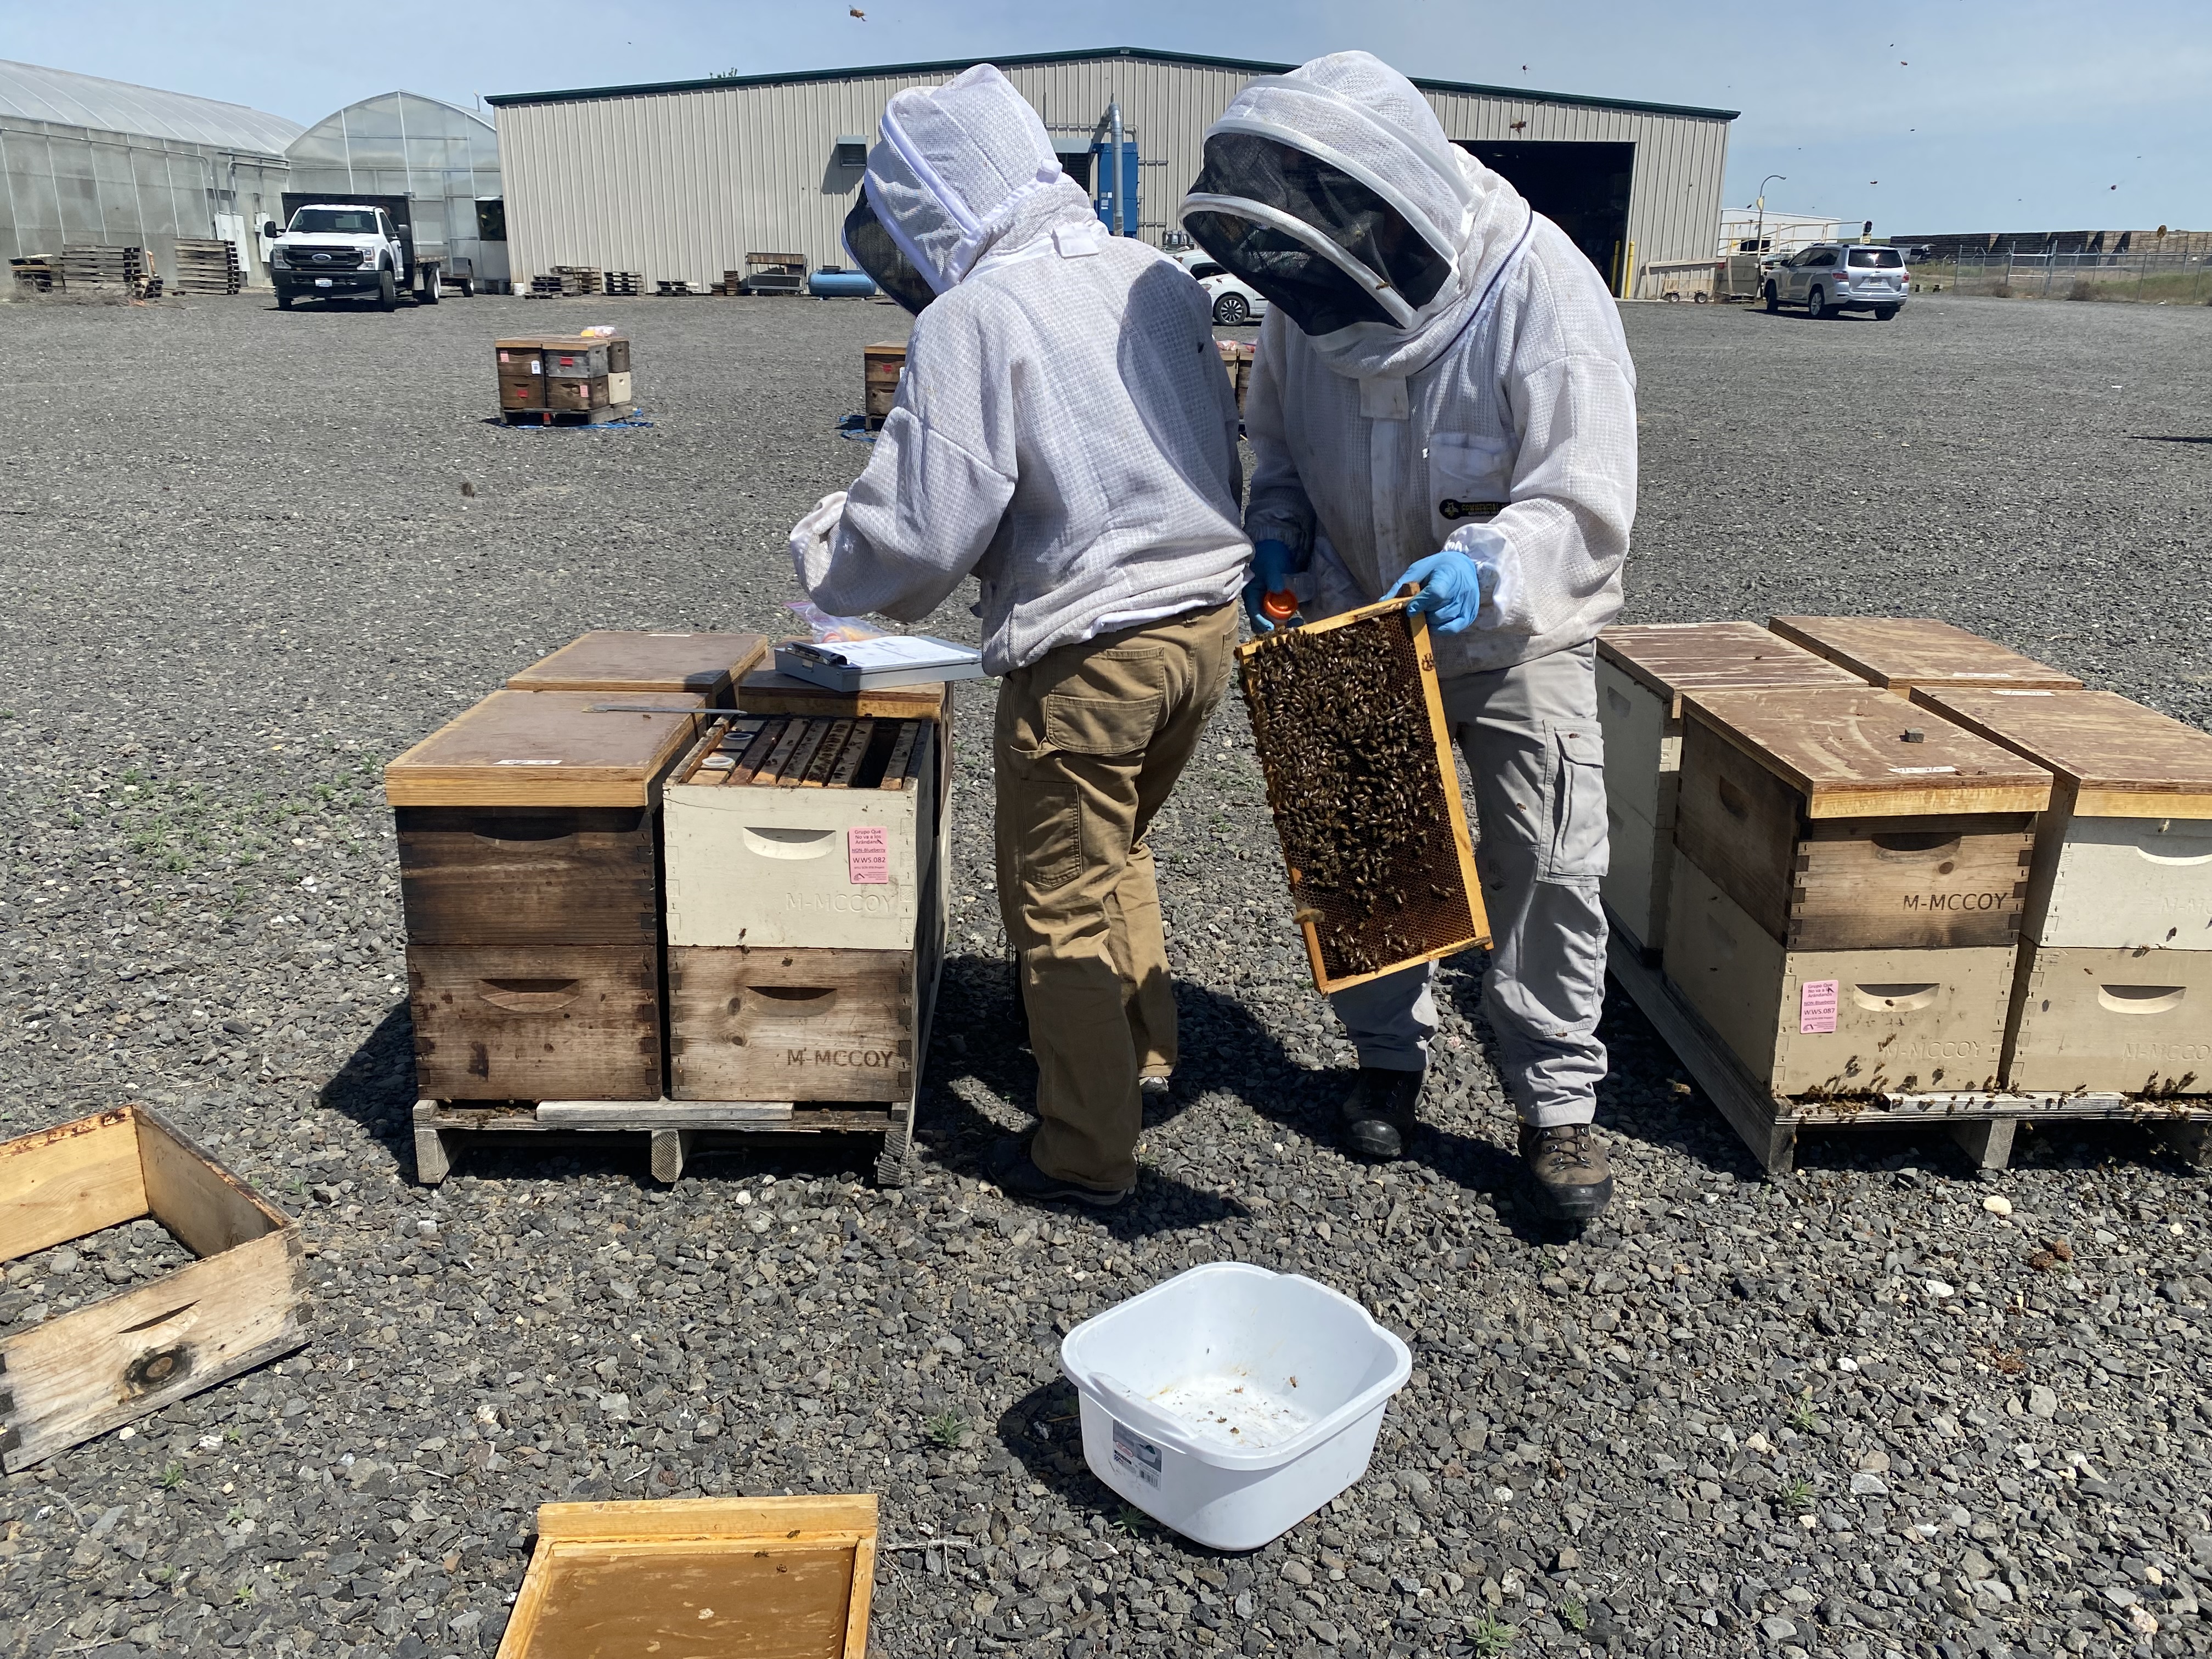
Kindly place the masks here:
<instances>
[{"instance_id":1,"label":"white fabric hood of the beekeeper holding the bee-covered frame","mask_svg":"<svg viewBox=\"0 0 2212 1659\"><path fill-rule=\"evenodd\" d=\"M1217 133L1272 139L1327 161L1387 199L1422 243L1451 261L1436 292L1398 319L1310 336L1340 374L1402 376L1436 358L1528 232L1522 195L1444 137L1413 82L1365 51L1329 53L1250 82L1206 137Z\"/></svg>"}]
</instances>

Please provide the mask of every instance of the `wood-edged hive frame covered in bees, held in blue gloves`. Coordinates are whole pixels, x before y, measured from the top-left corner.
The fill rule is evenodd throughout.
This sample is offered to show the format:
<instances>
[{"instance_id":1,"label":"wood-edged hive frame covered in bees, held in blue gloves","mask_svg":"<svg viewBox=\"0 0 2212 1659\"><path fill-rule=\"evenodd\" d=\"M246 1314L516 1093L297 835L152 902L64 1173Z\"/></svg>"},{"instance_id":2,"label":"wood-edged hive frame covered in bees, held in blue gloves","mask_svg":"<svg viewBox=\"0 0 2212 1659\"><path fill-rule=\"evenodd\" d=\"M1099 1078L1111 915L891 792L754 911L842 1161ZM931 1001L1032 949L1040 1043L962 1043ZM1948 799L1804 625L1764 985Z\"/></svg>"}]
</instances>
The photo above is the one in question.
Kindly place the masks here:
<instances>
[{"instance_id":1,"label":"wood-edged hive frame covered in bees, held in blue gloves","mask_svg":"<svg viewBox=\"0 0 2212 1659\"><path fill-rule=\"evenodd\" d=\"M1294 810L1285 799L1287 779L1296 776L1321 745L1312 728L1276 726L1281 714L1270 714L1263 706L1265 692L1254 681L1254 661L1263 659L1265 653L1296 650L1301 639L1321 639L1347 628L1371 633L1389 661L1380 666L1380 672L1374 661L1365 664L1367 675L1336 688L1338 695L1327 699L1321 719L1332 719L1336 710L1358 710L1363 717L1371 717L1389 697L1402 699L1405 712L1420 728L1416 752L1405 757L1407 787L1427 792L1433 785L1433 796L1416 803L1411 814L1427 823L1442 823L1451 832L1449 838L1433 834L1418 838L1413 843L1418 856L1402 860L1391 872L1405 885L1425 885L1431 896L1396 907L1387 920L1343 891L1310 880L1298 869L1296 834L1285 827L1285 810ZM1385 599L1340 617L1254 639L1237 648L1237 659L1243 666L1245 708L1252 714L1252 737L1267 779L1267 805L1283 838L1283 863L1290 874L1292 900L1298 907L1298 929L1305 933L1305 956L1314 969L1314 984L1325 993L1343 991L1385 973L1489 945L1491 925L1482 909L1482 885L1475 878L1475 849L1467 832L1467 807L1460 801L1460 774L1453 765L1451 726L1444 721L1444 697L1436 681L1436 650L1429 646L1427 617L1409 611L1405 599ZM1389 816L1407 814L1391 812ZM1343 834L1371 834L1371 827L1345 825Z\"/></svg>"}]
</instances>

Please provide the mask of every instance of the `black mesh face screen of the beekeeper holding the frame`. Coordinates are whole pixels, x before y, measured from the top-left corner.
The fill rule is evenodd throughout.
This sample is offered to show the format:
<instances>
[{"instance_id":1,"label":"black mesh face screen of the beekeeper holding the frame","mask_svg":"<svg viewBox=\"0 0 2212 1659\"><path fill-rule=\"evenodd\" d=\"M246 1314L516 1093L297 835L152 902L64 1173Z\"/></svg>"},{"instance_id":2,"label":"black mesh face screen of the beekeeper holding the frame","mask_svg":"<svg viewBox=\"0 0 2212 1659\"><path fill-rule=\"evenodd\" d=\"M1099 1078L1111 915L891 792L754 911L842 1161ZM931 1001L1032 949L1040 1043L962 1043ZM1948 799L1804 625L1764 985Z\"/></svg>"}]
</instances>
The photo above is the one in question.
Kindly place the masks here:
<instances>
[{"instance_id":1,"label":"black mesh face screen of the beekeeper holding the frame","mask_svg":"<svg viewBox=\"0 0 2212 1659\"><path fill-rule=\"evenodd\" d=\"M1383 197L1274 139L1214 133L1206 139L1206 170L1190 190L1259 201L1312 226L1413 310L1436 299L1451 274L1451 261ZM1283 230L1223 210L1194 212L1183 223L1206 252L1290 312L1307 334L1391 321L1356 281Z\"/></svg>"}]
</instances>

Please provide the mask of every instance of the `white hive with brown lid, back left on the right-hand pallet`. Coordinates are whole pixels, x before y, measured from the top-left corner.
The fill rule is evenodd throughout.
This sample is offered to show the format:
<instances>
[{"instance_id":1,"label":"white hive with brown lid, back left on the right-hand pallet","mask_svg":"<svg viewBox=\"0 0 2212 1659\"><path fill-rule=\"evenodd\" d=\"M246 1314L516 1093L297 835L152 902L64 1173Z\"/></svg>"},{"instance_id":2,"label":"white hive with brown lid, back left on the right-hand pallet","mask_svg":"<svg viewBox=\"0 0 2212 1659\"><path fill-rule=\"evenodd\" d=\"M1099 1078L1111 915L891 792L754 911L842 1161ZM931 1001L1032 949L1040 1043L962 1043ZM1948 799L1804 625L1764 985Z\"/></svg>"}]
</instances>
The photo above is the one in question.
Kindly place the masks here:
<instances>
[{"instance_id":1,"label":"white hive with brown lid, back left on the right-hand pallet","mask_svg":"<svg viewBox=\"0 0 2212 1659\"><path fill-rule=\"evenodd\" d=\"M1681 695L1750 686L1858 686L1756 622L1661 622L1597 635L1597 719L1606 734L1606 907L1644 951L1666 940L1681 783Z\"/></svg>"}]
</instances>

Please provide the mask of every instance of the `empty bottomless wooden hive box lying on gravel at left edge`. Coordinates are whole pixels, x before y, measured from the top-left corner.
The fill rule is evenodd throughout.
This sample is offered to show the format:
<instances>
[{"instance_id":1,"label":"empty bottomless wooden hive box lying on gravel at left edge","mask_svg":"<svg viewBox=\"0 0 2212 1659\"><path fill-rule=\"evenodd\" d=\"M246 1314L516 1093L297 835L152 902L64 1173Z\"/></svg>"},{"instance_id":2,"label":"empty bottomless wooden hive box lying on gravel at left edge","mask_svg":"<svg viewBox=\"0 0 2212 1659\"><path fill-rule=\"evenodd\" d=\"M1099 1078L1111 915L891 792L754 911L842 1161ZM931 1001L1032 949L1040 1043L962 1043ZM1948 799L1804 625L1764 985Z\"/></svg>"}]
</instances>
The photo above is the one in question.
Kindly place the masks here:
<instances>
[{"instance_id":1,"label":"empty bottomless wooden hive box lying on gravel at left edge","mask_svg":"<svg viewBox=\"0 0 2212 1659\"><path fill-rule=\"evenodd\" d=\"M9 1473L307 1340L299 1228L146 1106L0 1146L0 1259L153 1217L199 1261L0 1338Z\"/></svg>"}]
</instances>

